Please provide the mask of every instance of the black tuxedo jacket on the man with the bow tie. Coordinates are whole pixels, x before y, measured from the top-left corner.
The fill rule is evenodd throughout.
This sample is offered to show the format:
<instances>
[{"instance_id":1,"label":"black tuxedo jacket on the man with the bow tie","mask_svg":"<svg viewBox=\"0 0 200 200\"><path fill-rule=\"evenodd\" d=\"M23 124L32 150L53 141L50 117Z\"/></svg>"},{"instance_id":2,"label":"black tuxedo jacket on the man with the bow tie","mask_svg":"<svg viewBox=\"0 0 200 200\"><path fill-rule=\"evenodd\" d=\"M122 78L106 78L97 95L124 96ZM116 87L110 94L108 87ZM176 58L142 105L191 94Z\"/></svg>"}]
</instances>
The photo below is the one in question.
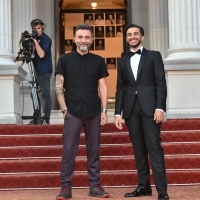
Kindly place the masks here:
<instances>
[{"instance_id":1,"label":"black tuxedo jacket on the man with the bow tie","mask_svg":"<svg viewBox=\"0 0 200 200\"><path fill-rule=\"evenodd\" d=\"M133 75L130 56L118 61L115 114L127 119L131 113L137 91L140 105L147 116L153 116L155 109L166 111L167 87L161 54L143 48L137 79Z\"/></svg>"}]
</instances>

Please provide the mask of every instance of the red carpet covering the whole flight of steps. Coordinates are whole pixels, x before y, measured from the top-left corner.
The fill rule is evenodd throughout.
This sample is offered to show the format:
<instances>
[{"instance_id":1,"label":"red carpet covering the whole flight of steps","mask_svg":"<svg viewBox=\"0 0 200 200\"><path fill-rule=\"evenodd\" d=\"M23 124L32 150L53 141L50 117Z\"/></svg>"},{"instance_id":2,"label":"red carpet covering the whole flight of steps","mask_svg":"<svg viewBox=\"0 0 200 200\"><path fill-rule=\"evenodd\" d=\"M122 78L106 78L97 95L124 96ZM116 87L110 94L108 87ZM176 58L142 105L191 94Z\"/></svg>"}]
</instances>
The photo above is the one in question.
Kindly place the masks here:
<instances>
[{"instance_id":1,"label":"red carpet covering the whole flight of steps","mask_svg":"<svg viewBox=\"0 0 200 200\"><path fill-rule=\"evenodd\" d=\"M164 122L162 142L169 184L200 183L200 119ZM100 155L102 186L137 184L125 126L123 132L114 124L102 127ZM0 188L59 187L61 156L62 125L0 125ZM72 181L88 186L84 133Z\"/></svg>"}]
</instances>

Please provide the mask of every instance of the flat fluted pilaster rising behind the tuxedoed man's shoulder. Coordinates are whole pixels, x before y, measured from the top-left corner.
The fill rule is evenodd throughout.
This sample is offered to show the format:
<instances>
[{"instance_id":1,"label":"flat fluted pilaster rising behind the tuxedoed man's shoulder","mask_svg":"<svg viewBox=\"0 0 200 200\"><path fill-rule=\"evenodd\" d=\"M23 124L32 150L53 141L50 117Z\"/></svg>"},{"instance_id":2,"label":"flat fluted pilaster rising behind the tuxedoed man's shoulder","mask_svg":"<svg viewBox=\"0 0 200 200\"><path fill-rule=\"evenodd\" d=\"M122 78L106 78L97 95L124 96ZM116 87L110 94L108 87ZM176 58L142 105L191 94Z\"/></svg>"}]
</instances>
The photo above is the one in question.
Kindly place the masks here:
<instances>
[{"instance_id":1,"label":"flat fluted pilaster rising behind the tuxedoed man's shoulder","mask_svg":"<svg viewBox=\"0 0 200 200\"><path fill-rule=\"evenodd\" d=\"M166 58L169 47L168 1L148 0L150 49L160 51Z\"/></svg>"}]
</instances>

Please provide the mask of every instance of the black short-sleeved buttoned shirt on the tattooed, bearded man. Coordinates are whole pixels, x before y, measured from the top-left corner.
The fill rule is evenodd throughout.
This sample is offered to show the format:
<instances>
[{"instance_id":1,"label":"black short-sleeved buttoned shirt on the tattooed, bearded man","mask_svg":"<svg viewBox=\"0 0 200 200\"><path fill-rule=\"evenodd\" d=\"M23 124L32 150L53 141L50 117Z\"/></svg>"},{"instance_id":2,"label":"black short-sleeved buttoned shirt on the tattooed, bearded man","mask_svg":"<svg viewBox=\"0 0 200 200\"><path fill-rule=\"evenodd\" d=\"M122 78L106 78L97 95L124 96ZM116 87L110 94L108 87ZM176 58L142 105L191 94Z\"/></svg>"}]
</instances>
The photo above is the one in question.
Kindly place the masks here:
<instances>
[{"instance_id":1,"label":"black short-sleeved buttoned shirt on the tattooed, bearded man","mask_svg":"<svg viewBox=\"0 0 200 200\"><path fill-rule=\"evenodd\" d=\"M104 58L77 51L60 56L55 74L64 76L65 102L67 110L80 119L88 119L101 112L98 81L107 77Z\"/></svg>"}]
</instances>

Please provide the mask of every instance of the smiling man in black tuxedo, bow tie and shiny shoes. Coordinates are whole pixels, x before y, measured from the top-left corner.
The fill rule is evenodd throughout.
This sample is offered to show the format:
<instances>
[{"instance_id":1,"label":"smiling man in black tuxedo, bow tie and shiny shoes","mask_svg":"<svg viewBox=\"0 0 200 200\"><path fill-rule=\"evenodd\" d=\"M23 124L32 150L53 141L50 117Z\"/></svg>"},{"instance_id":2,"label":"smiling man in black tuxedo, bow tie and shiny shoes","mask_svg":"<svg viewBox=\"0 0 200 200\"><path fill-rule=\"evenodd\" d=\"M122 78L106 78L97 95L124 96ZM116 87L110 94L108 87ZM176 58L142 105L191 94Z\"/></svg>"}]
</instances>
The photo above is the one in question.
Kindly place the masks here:
<instances>
[{"instance_id":1,"label":"smiling man in black tuxedo, bow tie and shiny shoes","mask_svg":"<svg viewBox=\"0 0 200 200\"><path fill-rule=\"evenodd\" d=\"M129 130L138 172L138 187L125 197L151 196L150 167L159 200L168 200L166 169L161 146L161 122L166 110L167 87L161 54L142 46L144 30L131 24L125 28L129 55L118 61L115 125L122 129L121 112Z\"/></svg>"}]
</instances>

